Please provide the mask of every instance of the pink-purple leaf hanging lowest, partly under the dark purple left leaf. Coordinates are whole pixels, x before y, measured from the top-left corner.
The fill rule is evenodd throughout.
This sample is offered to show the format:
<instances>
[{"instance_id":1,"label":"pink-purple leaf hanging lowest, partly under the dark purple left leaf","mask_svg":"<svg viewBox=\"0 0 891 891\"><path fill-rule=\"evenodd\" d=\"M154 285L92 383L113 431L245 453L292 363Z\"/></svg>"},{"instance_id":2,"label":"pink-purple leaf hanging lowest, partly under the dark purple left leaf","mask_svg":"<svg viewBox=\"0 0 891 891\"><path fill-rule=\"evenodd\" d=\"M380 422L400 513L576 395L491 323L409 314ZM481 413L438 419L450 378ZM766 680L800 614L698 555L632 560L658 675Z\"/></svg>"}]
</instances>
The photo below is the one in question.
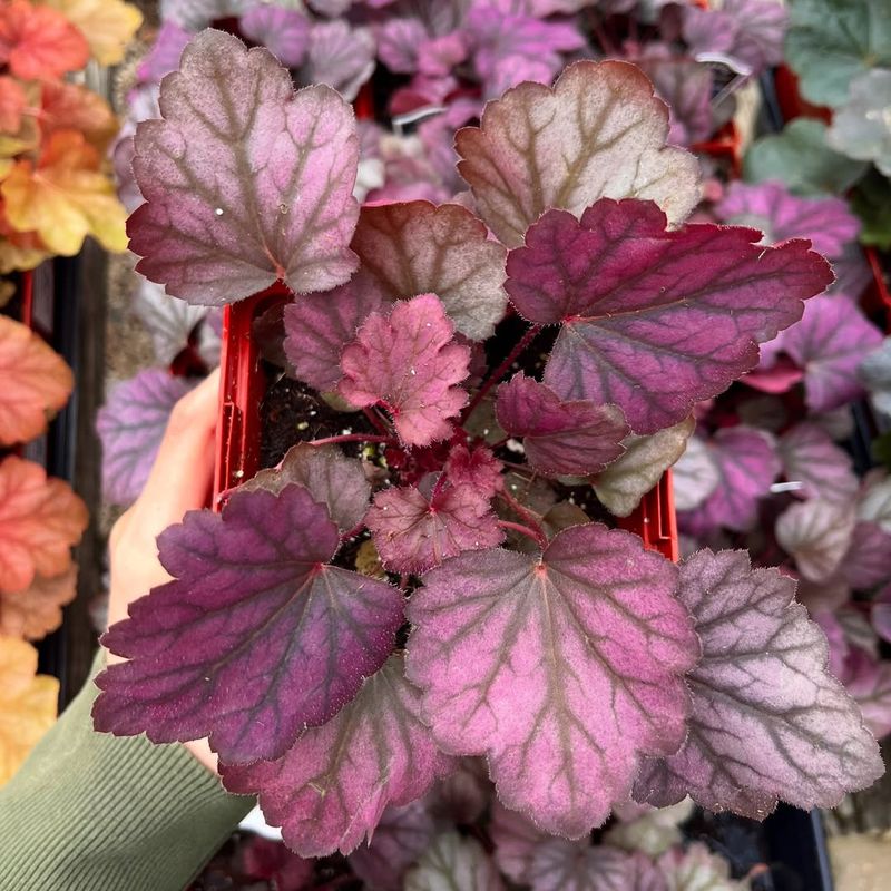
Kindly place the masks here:
<instances>
[{"instance_id":1,"label":"pink-purple leaf hanging lowest, partly under the dark purple left leaf","mask_svg":"<svg viewBox=\"0 0 891 891\"><path fill-rule=\"evenodd\" d=\"M277 761L221 765L231 792L257 794L267 821L301 856L349 854L389 804L419 799L454 765L421 722L420 695L393 656L355 698L309 728Z\"/></svg>"}]
</instances>

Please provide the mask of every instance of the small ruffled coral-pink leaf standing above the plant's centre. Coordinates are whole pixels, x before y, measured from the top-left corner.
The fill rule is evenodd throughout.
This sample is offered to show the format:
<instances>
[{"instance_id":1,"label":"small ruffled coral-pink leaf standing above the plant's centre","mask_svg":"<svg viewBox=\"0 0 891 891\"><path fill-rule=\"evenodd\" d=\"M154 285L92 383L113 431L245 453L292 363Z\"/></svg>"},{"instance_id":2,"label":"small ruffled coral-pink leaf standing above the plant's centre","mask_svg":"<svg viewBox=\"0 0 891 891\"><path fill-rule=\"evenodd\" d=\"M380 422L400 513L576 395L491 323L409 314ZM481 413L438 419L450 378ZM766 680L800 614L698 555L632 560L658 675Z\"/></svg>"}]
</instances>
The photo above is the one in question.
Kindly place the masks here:
<instances>
[{"instance_id":1,"label":"small ruffled coral-pink leaf standing above the plant's centre","mask_svg":"<svg viewBox=\"0 0 891 891\"><path fill-rule=\"evenodd\" d=\"M456 384L467 378L470 350L453 339L434 294L372 313L341 355L337 390L352 405L382 405L405 446L429 446L450 435L467 402Z\"/></svg>"}]
</instances>

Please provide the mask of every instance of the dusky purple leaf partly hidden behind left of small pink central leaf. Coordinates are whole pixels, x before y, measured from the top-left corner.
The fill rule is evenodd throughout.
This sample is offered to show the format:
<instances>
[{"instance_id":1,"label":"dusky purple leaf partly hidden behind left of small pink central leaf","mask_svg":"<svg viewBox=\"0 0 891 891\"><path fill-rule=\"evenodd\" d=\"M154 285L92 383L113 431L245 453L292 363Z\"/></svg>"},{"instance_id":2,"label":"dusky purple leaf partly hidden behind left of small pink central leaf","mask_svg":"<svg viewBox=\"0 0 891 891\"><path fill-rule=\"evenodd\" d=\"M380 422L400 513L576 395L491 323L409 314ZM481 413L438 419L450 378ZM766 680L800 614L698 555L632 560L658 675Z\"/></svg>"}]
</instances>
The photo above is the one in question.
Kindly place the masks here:
<instances>
[{"instance_id":1,"label":"dusky purple leaf partly hidden behind left of small pink central leaf","mask_svg":"<svg viewBox=\"0 0 891 891\"><path fill-rule=\"evenodd\" d=\"M322 393L335 390L344 347L382 304L380 290L360 270L333 291L302 295L285 306L284 351L297 379Z\"/></svg>"}]
</instances>

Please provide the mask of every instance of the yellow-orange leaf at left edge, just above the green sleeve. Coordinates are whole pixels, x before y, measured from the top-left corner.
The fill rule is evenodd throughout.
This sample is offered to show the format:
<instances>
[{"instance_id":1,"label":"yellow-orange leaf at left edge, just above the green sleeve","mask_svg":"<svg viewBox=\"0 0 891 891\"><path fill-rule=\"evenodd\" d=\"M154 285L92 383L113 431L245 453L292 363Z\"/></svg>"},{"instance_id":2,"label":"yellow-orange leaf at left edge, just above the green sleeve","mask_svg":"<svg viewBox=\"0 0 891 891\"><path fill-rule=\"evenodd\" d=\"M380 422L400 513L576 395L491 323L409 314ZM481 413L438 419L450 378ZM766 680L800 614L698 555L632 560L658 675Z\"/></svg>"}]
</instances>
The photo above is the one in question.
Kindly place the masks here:
<instances>
[{"instance_id":1,"label":"yellow-orange leaf at left edge, just above the green sleeve","mask_svg":"<svg viewBox=\"0 0 891 891\"><path fill-rule=\"evenodd\" d=\"M56 721L59 682L37 674L37 650L0 637L0 785Z\"/></svg>"}]
</instances>

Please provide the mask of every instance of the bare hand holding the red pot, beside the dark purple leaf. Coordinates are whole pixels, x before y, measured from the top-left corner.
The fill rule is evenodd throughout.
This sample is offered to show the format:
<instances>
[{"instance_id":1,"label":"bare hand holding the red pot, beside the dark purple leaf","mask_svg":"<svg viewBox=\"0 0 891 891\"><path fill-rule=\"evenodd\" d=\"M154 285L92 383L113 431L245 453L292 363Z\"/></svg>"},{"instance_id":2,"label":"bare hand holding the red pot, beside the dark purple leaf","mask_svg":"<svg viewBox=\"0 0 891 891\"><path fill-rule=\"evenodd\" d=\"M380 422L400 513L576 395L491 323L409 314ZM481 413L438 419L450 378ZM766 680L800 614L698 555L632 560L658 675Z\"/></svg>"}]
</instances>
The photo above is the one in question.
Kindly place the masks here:
<instances>
[{"instance_id":1,"label":"bare hand holding the red pot, beside the dark purple leaf","mask_svg":"<svg viewBox=\"0 0 891 891\"><path fill-rule=\"evenodd\" d=\"M158 560L156 539L168 526L180 522L186 511L206 505L214 473L218 392L217 370L174 405L141 495L111 529L109 625L127 618L134 600L170 580ZM118 662L124 659L107 654L109 665ZM206 740L185 746L202 764L216 771L216 755Z\"/></svg>"}]
</instances>

